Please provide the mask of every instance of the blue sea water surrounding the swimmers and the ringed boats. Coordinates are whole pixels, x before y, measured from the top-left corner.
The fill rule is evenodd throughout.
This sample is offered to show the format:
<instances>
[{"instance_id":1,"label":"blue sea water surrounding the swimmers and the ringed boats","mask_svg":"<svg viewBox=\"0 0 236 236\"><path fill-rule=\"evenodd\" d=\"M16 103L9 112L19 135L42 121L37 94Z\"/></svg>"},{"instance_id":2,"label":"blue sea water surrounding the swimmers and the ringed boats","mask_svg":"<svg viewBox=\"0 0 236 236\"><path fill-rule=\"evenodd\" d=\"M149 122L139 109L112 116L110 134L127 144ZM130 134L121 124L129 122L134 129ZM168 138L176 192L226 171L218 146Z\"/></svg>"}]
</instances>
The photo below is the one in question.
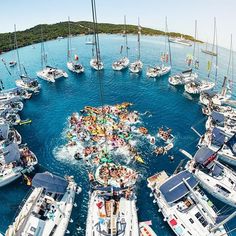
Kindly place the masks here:
<instances>
[{"instance_id":1,"label":"blue sea water surrounding the swimmers and the ringed boats","mask_svg":"<svg viewBox=\"0 0 236 236\"><path fill-rule=\"evenodd\" d=\"M83 192L76 198L77 208L72 213L73 223L70 223L71 235L84 235L87 216L87 204L89 196L89 182L87 178L88 168L79 161L66 159L55 150L65 144L63 130L67 125L67 118L84 106L100 106L99 83L97 72L89 66L91 47L85 45L86 37L78 36L72 39L72 44L77 48L80 61L85 66L83 75L75 75L66 68L66 39L54 40L46 43L46 51L51 65L66 70L68 79L59 79L55 84L39 80L42 85L40 94L25 102L21 112L22 119L32 119L32 124L18 127L23 141L28 143L32 151L39 159L38 171L52 171L60 175L74 175L76 182L83 188ZM158 235L173 235L168 225L158 213L157 206L149 197L150 191L146 187L146 178L155 172L166 170L171 174L184 157L178 152L179 148L186 149L190 153L196 151L198 137L191 130L191 126L197 124L199 132L204 132L205 117L201 113L197 97L184 94L183 88L173 88L168 85L168 76L153 80L148 79L145 70L148 65L159 63L160 53L164 50L163 37L142 37L141 57L144 63L143 73L132 75L128 70L114 72L111 63L118 57L122 37L120 35L101 35L101 56L105 64L105 70L101 73L104 88L104 103L116 104L124 101L132 102L131 109L140 113L149 111L151 116L142 116L144 126L151 134L155 134L158 127L164 125L172 128L176 136L175 147L171 151L175 159L171 162L168 156L156 157L152 151L143 147L145 165L132 164L141 177L137 183L137 207L140 221L152 220L153 228ZM136 37L129 36L130 60L136 58ZM199 45L203 47L203 45ZM197 47L198 48L198 47ZM185 58L192 53L192 47L184 47L177 44L171 45L172 50L172 74L186 69ZM40 44L21 48L19 50L22 63L31 76L40 70ZM223 75L228 64L229 51L219 48L219 80L220 88ZM14 59L14 53L1 55L6 61ZM207 61L210 57L199 52L200 70L199 76L206 78ZM0 79L6 88L13 87L16 78L16 69L10 76L3 64L0 64ZM234 89L235 94L235 89ZM235 95L234 95L235 98ZM14 182L0 189L0 231L4 232L12 222L29 187L22 180ZM213 202L221 208L224 204L216 199ZM236 227L235 220L228 223L230 229Z\"/></svg>"}]
</instances>

